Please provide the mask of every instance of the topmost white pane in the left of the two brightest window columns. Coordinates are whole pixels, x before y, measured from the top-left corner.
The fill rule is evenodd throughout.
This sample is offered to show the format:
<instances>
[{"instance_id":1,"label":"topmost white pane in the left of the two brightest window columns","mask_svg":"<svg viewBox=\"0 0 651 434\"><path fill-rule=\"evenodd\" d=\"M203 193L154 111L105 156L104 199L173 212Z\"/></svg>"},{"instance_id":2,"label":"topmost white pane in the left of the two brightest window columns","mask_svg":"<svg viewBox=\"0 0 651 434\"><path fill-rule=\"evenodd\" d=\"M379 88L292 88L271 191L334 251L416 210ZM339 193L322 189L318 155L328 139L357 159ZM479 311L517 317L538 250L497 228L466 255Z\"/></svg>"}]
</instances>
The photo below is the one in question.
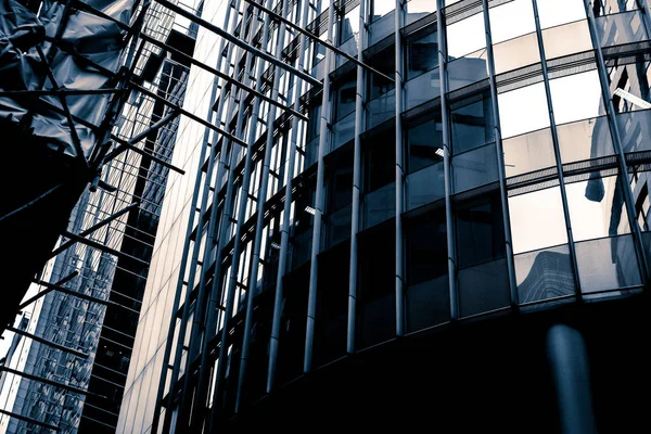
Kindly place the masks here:
<instances>
[{"instance_id":1,"label":"topmost white pane in the left of the two brightest window columns","mask_svg":"<svg viewBox=\"0 0 651 434\"><path fill-rule=\"evenodd\" d=\"M536 31L532 0L514 0L490 8L489 17L493 43Z\"/></svg>"}]
</instances>

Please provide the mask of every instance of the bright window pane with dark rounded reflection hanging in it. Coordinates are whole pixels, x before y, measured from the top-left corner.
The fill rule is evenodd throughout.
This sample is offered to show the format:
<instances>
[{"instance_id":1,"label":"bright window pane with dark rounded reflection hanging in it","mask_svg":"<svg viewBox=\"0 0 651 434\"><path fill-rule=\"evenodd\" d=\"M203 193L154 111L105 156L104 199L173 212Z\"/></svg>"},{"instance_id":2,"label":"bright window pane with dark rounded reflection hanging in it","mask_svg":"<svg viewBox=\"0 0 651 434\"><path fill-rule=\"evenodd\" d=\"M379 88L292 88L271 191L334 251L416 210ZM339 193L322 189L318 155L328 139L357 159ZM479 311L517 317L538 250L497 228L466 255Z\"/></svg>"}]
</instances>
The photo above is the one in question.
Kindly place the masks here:
<instances>
[{"instance_id":1,"label":"bright window pane with dark rounded reflection hanging in it","mask_svg":"<svg viewBox=\"0 0 651 434\"><path fill-rule=\"evenodd\" d=\"M622 183L616 176L589 179L565 186L574 241L628 233Z\"/></svg>"}]
</instances>

